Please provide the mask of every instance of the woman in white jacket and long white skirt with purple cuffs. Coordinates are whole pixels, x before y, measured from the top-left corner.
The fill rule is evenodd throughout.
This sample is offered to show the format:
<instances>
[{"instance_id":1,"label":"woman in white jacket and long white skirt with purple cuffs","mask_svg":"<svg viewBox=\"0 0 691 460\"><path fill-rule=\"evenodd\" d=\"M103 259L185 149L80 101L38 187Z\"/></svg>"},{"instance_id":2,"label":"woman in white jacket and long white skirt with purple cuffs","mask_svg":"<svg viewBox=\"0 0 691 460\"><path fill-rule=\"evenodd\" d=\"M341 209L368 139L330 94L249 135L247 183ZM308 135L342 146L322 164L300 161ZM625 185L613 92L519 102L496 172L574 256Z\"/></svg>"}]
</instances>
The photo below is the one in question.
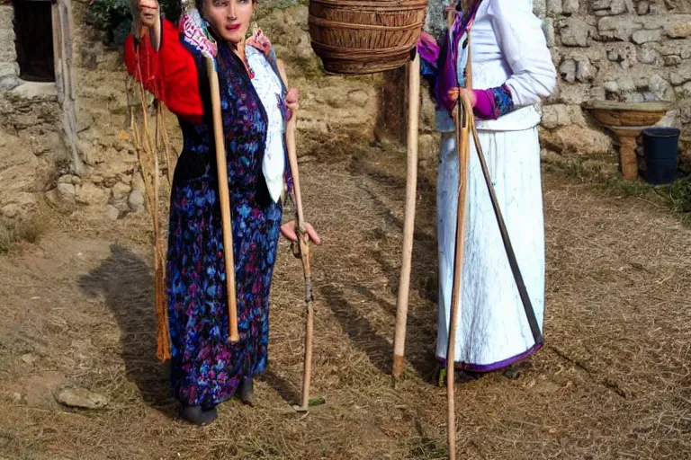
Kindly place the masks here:
<instances>
[{"instance_id":1,"label":"woman in white jacket and long white skirt with purple cuffs","mask_svg":"<svg viewBox=\"0 0 691 460\"><path fill-rule=\"evenodd\" d=\"M537 125L556 70L531 0L462 1L441 41L424 34L418 49L437 102L442 133L437 182L439 319L436 357L445 362L455 249L459 165L450 114L460 94L472 102L492 185L528 296L542 329L544 225ZM470 58L473 90L463 88ZM461 378L511 370L540 348L509 267L480 161L471 142L461 311L455 340Z\"/></svg>"}]
</instances>

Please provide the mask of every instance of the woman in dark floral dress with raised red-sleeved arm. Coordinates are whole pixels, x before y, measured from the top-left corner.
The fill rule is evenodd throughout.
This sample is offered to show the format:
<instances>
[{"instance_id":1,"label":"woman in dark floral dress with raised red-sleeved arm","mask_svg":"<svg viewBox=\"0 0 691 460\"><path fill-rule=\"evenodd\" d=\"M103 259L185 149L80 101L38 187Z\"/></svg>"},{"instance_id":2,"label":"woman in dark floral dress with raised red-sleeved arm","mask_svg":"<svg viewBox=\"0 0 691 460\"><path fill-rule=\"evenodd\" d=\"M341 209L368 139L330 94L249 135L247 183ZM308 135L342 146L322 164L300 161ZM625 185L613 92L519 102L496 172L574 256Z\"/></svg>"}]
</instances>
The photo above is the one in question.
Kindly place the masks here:
<instances>
[{"instance_id":1,"label":"woman in dark floral dress with raised red-sleeved arm","mask_svg":"<svg viewBox=\"0 0 691 460\"><path fill-rule=\"evenodd\" d=\"M269 290L279 234L283 230L295 239L294 222L283 228L281 222L284 184L290 190L291 183L283 128L297 108L297 92L285 88L271 44L260 31L247 40L252 51L246 53L255 2L197 0L197 8L218 46L238 343L228 341L226 267L203 47L184 24L178 29L159 19L156 0L138 0L136 32L126 43L125 60L130 73L178 116L183 132L171 192L166 267L171 384L184 419L206 424L216 419L216 406L238 389L242 401L252 403L253 376L266 367ZM311 228L310 236L319 243Z\"/></svg>"}]
</instances>

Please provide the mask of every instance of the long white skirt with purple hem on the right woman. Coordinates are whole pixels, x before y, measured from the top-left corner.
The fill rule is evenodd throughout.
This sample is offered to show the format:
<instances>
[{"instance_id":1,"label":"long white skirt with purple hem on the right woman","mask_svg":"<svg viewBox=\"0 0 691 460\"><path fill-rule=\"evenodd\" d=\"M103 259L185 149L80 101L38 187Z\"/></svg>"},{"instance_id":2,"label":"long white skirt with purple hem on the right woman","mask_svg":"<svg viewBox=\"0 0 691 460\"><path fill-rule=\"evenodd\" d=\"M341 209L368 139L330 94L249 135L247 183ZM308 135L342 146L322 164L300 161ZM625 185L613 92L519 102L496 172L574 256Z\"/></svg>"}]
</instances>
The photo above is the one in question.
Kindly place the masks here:
<instances>
[{"instance_id":1,"label":"long white skirt with purple hem on the right woman","mask_svg":"<svg viewBox=\"0 0 691 460\"><path fill-rule=\"evenodd\" d=\"M499 206L539 324L544 312L544 220L537 128L480 131ZM455 133L444 133L437 182L439 323L436 356L445 362L451 316L458 199ZM507 367L539 348L508 264L497 219L471 142L462 300L454 361L476 372Z\"/></svg>"}]
</instances>

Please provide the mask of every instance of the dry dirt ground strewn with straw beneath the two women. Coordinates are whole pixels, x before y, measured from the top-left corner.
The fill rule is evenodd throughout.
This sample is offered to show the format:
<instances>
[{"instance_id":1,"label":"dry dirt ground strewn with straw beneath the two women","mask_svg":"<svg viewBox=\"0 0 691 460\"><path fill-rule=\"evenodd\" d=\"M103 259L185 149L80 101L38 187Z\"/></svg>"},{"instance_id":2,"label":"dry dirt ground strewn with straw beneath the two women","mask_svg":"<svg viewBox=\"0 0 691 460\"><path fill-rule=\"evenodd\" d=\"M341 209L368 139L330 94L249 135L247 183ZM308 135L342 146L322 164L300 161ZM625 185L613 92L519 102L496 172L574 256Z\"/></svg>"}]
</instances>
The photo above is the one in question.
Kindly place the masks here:
<instances>
[{"instance_id":1,"label":"dry dirt ground strewn with straw beneath the two women","mask_svg":"<svg viewBox=\"0 0 691 460\"><path fill-rule=\"evenodd\" d=\"M301 88L306 105L319 88ZM325 241L313 252L312 394L326 405L291 409L303 287L287 243L256 407L229 401L193 428L155 357L150 219L50 213L39 243L0 256L0 459L445 458L445 390L432 383L435 158L421 153L408 367L394 386L405 151L354 139L353 126L301 125L306 214ZM457 388L459 458L691 458L691 229L556 173L543 195L546 347L517 380ZM65 385L110 403L67 409L53 397Z\"/></svg>"}]
</instances>

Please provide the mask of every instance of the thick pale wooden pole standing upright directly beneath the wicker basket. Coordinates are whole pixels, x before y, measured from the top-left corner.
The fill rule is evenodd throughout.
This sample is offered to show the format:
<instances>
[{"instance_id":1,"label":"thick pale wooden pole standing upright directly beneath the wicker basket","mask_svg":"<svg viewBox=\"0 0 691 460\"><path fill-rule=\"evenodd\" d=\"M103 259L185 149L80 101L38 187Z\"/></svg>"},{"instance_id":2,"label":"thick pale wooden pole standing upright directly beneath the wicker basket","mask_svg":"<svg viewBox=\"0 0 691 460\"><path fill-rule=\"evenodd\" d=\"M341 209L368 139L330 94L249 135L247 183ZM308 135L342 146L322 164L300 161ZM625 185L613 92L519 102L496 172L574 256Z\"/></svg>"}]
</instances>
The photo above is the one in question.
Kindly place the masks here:
<instances>
[{"instance_id":1,"label":"thick pale wooden pole standing upright directly beneath the wicker basket","mask_svg":"<svg viewBox=\"0 0 691 460\"><path fill-rule=\"evenodd\" d=\"M406 177L406 214L403 225L403 254L400 267L399 299L396 331L393 339L393 377L398 379L405 367L406 324L410 270L413 260L415 233L415 201L417 199L417 136L420 119L420 56L416 53L408 71L408 174Z\"/></svg>"}]
</instances>

